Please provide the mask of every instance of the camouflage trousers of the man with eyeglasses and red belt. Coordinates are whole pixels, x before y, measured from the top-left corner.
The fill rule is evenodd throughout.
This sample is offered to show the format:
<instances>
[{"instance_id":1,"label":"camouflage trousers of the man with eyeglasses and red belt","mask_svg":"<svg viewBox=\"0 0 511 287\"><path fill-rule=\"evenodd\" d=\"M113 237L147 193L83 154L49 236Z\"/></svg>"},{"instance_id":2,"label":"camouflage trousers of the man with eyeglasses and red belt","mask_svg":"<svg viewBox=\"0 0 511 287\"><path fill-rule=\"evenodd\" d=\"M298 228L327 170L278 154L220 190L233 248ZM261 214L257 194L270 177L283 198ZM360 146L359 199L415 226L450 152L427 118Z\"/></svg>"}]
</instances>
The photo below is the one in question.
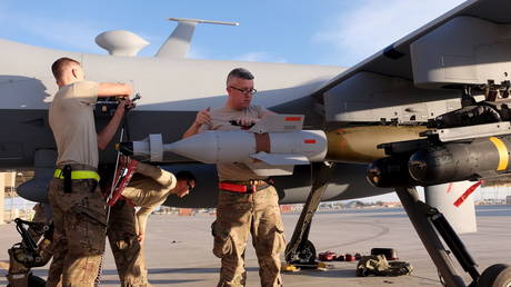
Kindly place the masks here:
<instances>
[{"instance_id":1,"label":"camouflage trousers of the man with eyeglasses and red belt","mask_svg":"<svg viewBox=\"0 0 511 287\"><path fill-rule=\"evenodd\" d=\"M212 225L213 254L221 258L218 286L244 286L244 250L249 234L259 260L261 286L281 286L280 254L285 248L279 197L270 186L254 194L219 191Z\"/></svg>"}]
</instances>

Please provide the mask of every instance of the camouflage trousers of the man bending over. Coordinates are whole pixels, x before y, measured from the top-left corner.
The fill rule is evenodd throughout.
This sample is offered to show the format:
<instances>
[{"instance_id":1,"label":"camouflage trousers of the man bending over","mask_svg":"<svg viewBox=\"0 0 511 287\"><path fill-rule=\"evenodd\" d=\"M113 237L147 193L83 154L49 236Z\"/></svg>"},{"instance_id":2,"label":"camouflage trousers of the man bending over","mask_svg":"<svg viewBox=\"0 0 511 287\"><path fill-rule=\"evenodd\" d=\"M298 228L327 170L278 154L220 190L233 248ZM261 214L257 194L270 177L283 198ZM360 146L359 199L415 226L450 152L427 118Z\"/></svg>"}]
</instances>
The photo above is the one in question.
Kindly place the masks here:
<instances>
[{"instance_id":1,"label":"camouflage trousers of the man bending over","mask_svg":"<svg viewBox=\"0 0 511 287\"><path fill-rule=\"evenodd\" d=\"M108 240L123 287L147 287L148 271L137 236L134 207L118 200L110 210Z\"/></svg>"}]
</instances>

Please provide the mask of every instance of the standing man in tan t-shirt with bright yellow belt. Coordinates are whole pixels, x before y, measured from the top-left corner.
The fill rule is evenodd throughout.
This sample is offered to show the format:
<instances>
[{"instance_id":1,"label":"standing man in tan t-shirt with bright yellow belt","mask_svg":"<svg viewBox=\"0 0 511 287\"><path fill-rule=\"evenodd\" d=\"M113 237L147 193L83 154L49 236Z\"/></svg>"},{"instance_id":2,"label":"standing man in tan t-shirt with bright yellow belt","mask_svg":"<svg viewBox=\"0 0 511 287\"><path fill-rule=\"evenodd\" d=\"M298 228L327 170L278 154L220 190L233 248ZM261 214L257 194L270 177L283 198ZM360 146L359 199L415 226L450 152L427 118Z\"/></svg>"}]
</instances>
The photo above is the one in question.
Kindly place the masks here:
<instances>
[{"instance_id":1,"label":"standing man in tan t-shirt with bright yellow belt","mask_svg":"<svg viewBox=\"0 0 511 287\"><path fill-rule=\"evenodd\" d=\"M98 149L114 136L129 100L121 101L110 122L96 132L93 105L98 97L124 98L124 83L84 81L81 65L60 58L51 70L59 90L49 109L57 144L57 170L50 181L53 208L53 260L48 286L93 286L104 251L106 205L98 188Z\"/></svg>"}]
</instances>

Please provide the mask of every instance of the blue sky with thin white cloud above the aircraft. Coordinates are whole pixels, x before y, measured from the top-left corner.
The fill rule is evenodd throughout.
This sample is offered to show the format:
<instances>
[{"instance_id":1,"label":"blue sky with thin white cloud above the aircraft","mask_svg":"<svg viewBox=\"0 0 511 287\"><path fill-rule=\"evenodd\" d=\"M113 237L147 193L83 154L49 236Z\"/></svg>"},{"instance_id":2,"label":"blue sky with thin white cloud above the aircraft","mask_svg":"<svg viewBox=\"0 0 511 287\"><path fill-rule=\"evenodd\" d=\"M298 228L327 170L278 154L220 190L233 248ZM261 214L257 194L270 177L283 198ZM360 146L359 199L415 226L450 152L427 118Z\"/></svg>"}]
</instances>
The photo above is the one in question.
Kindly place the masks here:
<instances>
[{"instance_id":1,"label":"blue sky with thin white cloud above the aircraft","mask_svg":"<svg viewBox=\"0 0 511 287\"><path fill-rule=\"evenodd\" d=\"M0 0L0 38L106 53L94 38L132 31L158 51L177 26L167 18L236 21L199 24L190 58L350 67L463 0ZM383 196L377 200L397 200Z\"/></svg>"}]
</instances>

